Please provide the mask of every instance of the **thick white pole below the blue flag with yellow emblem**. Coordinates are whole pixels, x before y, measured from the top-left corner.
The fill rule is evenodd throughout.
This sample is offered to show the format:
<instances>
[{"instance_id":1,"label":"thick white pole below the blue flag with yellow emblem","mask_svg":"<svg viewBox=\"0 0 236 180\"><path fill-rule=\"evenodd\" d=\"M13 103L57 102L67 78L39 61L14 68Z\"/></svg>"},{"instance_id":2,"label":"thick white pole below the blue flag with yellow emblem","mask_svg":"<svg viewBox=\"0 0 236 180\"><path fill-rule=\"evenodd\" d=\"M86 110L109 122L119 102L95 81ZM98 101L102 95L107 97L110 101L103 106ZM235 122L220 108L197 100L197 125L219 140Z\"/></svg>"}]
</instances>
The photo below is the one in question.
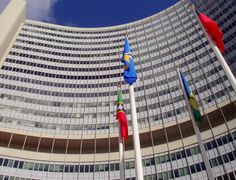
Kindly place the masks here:
<instances>
[{"instance_id":1,"label":"thick white pole below the blue flag with yellow emblem","mask_svg":"<svg viewBox=\"0 0 236 180\"><path fill-rule=\"evenodd\" d=\"M134 152L135 152L135 167L136 167L135 173L136 173L137 180L143 180L143 167L142 167L139 131L138 131L138 123L137 123L137 112L136 112L133 85L129 86L129 94L130 94L131 117L132 117L132 126L133 126L133 142L134 142Z\"/></svg>"}]
</instances>

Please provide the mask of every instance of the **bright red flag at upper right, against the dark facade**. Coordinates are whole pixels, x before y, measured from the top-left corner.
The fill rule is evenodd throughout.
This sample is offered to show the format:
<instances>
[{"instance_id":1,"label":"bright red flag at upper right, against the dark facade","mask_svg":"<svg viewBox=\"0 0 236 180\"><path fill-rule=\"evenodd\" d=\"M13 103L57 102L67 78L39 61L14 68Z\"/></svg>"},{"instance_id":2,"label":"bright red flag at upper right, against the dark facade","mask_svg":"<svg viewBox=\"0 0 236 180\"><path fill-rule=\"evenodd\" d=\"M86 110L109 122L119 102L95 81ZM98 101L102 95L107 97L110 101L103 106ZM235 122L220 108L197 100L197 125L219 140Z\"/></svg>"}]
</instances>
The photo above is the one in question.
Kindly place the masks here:
<instances>
[{"instance_id":1,"label":"bright red flag at upper right, against the dark facade","mask_svg":"<svg viewBox=\"0 0 236 180\"><path fill-rule=\"evenodd\" d=\"M207 17L205 14L199 12L197 12L197 14L199 20L201 21L208 35L210 36L212 41L216 44L216 46L220 49L220 51L223 53L225 47L223 42L223 32L220 30L220 27L217 25L215 21Z\"/></svg>"}]
</instances>

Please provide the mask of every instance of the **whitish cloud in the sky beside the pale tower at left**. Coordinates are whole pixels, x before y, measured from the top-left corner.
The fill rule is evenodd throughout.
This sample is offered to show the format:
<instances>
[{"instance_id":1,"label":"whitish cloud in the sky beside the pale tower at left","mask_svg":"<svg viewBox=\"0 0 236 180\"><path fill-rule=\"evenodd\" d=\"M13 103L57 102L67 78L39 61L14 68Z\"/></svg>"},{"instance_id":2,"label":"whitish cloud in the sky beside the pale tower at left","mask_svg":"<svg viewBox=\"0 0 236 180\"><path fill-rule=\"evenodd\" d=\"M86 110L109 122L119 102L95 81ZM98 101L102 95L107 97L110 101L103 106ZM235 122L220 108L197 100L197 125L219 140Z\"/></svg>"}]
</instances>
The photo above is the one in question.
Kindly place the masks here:
<instances>
[{"instance_id":1,"label":"whitish cloud in the sky beside the pale tower at left","mask_svg":"<svg viewBox=\"0 0 236 180\"><path fill-rule=\"evenodd\" d=\"M58 0L28 0L27 1L27 18L55 23L53 17L53 7Z\"/></svg>"}]
</instances>

